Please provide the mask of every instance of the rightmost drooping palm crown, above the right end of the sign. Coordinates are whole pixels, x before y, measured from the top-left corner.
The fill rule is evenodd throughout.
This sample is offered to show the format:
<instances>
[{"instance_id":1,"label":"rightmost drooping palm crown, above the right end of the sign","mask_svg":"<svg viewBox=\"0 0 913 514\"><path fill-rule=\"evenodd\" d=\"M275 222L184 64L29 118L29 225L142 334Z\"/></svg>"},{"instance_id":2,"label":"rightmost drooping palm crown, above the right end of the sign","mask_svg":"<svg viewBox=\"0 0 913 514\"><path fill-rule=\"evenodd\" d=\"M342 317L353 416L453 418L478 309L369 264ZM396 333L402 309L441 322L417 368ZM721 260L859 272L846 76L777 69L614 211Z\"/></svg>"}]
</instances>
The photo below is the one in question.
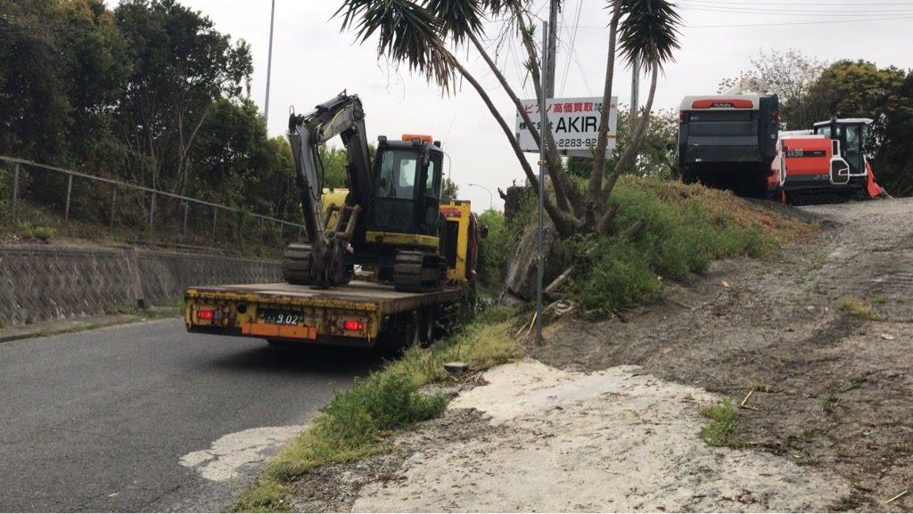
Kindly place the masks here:
<instances>
[{"instance_id":1,"label":"rightmost drooping palm crown, above the right end of the sign","mask_svg":"<svg viewBox=\"0 0 913 514\"><path fill-rule=\"evenodd\" d=\"M628 64L640 58L645 71L674 62L681 16L669 0L614 0L624 18L618 26L618 46ZM611 5L614 5L614 2Z\"/></svg>"}]
</instances>

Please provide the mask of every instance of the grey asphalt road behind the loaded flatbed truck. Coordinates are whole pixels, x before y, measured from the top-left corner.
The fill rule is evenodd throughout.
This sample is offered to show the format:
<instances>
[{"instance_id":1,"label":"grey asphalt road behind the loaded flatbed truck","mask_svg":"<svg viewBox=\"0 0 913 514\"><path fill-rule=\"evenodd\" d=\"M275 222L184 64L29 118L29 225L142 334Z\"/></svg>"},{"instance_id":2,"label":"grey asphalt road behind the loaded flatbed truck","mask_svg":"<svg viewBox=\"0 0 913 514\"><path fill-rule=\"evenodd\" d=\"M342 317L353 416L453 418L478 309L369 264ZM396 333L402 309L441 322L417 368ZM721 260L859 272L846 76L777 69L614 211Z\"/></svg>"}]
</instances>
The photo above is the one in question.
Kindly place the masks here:
<instances>
[{"instance_id":1,"label":"grey asphalt road behind the loaded flatbed truck","mask_svg":"<svg viewBox=\"0 0 913 514\"><path fill-rule=\"evenodd\" d=\"M214 481L181 457L300 425L370 351L288 350L161 320L0 344L0 510L218 511L257 473Z\"/></svg>"}]
</instances>

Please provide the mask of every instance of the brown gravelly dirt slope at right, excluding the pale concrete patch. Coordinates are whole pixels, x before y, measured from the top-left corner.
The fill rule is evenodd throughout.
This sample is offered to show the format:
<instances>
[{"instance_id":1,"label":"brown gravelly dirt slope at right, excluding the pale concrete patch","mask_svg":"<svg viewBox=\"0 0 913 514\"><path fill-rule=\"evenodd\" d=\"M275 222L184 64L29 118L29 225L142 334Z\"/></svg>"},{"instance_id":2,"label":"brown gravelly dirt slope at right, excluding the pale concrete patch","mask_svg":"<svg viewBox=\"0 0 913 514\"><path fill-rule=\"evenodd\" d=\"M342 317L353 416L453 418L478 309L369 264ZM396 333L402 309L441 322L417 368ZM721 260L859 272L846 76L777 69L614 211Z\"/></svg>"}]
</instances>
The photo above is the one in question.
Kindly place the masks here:
<instances>
[{"instance_id":1,"label":"brown gravelly dirt slope at right, excluding the pale concrete patch","mask_svg":"<svg viewBox=\"0 0 913 514\"><path fill-rule=\"evenodd\" d=\"M715 263L628 322L559 322L531 348L568 370L637 364L750 406L740 435L853 487L834 509L909 511L913 491L913 201L803 207L811 241ZM724 287L728 285L729 287ZM884 320L837 309L855 297Z\"/></svg>"}]
</instances>

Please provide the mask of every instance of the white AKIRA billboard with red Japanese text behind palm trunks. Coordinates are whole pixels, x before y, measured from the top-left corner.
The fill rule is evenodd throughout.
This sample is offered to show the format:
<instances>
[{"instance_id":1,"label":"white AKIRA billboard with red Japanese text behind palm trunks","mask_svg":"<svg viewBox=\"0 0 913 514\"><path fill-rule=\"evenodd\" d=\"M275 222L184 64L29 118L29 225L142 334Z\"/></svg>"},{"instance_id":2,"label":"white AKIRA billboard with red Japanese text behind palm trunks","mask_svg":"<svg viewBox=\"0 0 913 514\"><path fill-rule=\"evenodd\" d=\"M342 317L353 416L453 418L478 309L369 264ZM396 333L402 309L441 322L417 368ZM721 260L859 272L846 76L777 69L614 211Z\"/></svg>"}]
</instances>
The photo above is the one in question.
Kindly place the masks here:
<instances>
[{"instance_id":1,"label":"white AKIRA billboard with red Japanese text behind palm trunks","mask_svg":"<svg viewBox=\"0 0 913 514\"><path fill-rule=\"evenodd\" d=\"M540 126L540 111L538 100L520 100L523 109L530 115L530 120L535 124L536 130ZM577 157L592 157L599 136L599 121L602 118L603 97L582 97L569 99L546 100L546 112L551 123L551 133L555 138L555 146L562 153ZM618 98L612 97L612 106L609 110L608 152L615 148L618 125ZM520 113L517 113L517 123L514 131L523 152L539 152L539 146L532 139L526 122Z\"/></svg>"}]
</instances>

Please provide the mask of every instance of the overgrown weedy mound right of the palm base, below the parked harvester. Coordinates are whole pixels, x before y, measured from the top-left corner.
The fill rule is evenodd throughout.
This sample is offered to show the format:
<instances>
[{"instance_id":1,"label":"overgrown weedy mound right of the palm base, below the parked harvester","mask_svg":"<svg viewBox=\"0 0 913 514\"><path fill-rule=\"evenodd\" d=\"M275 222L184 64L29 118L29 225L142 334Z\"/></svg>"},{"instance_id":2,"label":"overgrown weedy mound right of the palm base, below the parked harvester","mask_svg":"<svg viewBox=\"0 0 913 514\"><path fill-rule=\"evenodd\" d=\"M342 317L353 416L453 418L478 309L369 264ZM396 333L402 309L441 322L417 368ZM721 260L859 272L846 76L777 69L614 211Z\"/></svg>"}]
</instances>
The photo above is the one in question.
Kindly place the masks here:
<instances>
[{"instance_id":1,"label":"overgrown weedy mound right of the palm base, below the parked harvester","mask_svg":"<svg viewBox=\"0 0 913 514\"><path fill-rule=\"evenodd\" d=\"M612 227L616 236L582 236L571 243L578 265L568 288L587 319L656 300L664 279L703 272L714 259L765 257L782 242L813 231L701 185L624 176L611 202L620 206ZM619 236L641 218L646 226L640 234Z\"/></svg>"}]
</instances>

